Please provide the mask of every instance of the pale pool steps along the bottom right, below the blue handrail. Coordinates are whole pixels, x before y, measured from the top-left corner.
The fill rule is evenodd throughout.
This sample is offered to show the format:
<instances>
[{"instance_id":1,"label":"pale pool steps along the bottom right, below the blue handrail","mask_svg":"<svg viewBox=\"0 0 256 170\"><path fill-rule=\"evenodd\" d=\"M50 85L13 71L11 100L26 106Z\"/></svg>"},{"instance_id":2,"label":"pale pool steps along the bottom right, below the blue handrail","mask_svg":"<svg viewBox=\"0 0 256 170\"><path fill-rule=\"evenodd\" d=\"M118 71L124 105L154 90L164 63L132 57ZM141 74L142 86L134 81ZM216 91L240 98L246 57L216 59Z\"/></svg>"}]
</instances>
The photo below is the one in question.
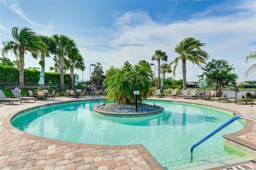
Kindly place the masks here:
<instances>
[{"instance_id":1,"label":"pale pool steps along the bottom right, below the blue handrail","mask_svg":"<svg viewBox=\"0 0 256 170\"><path fill-rule=\"evenodd\" d=\"M176 164L173 166L167 166L165 170L205 170L208 168L214 168L218 166L225 166L228 164L234 164L237 162L244 162L248 160L252 160L251 156L242 156L237 157L236 155L230 154L225 156L218 156L215 158L199 160L195 162L188 162L183 164Z\"/></svg>"}]
</instances>

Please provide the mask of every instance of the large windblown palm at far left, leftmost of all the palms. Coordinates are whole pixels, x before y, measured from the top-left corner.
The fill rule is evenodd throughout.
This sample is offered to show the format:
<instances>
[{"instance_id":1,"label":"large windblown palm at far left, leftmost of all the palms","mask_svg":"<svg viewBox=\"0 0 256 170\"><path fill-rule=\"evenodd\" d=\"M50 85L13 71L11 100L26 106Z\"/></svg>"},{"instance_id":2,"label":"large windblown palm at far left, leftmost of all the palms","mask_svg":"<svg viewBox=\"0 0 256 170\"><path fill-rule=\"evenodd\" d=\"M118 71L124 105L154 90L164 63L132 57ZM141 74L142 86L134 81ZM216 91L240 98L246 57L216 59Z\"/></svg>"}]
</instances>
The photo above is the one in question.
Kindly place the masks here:
<instances>
[{"instance_id":1,"label":"large windblown palm at far left, leftmost of all the palms","mask_svg":"<svg viewBox=\"0 0 256 170\"><path fill-rule=\"evenodd\" d=\"M47 45L42 41L42 39L34 32L32 29L25 27L20 30L19 28L12 28L12 37L14 41L2 42L2 55L12 51L14 55L19 59L20 66L20 86L24 85L24 54L26 51L32 53L32 57L38 58L39 53L44 53L47 49Z\"/></svg>"}]
</instances>

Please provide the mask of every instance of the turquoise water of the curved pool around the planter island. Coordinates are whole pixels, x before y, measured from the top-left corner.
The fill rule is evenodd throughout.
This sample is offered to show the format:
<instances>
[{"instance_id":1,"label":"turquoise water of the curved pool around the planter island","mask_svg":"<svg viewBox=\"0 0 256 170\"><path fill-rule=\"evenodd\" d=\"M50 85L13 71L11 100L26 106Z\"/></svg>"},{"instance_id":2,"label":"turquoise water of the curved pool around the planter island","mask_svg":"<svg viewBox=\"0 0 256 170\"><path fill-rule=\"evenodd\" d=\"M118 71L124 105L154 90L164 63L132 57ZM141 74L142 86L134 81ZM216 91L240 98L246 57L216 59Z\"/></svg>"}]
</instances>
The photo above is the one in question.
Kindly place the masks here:
<instances>
[{"instance_id":1,"label":"turquoise water of the curved pool around the planter island","mask_svg":"<svg viewBox=\"0 0 256 170\"><path fill-rule=\"evenodd\" d=\"M153 104L153 101L144 103ZM201 138L228 121L232 115L220 111L154 101L164 107L164 113L146 118L109 118L96 115L92 108L100 103L82 102L43 107L24 113L12 125L24 132L69 142L103 145L143 144L163 166L190 162L190 148ZM235 121L194 149L193 160L235 154L243 156L224 144L223 134L244 127Z\"/></svg>"}]
</instances>

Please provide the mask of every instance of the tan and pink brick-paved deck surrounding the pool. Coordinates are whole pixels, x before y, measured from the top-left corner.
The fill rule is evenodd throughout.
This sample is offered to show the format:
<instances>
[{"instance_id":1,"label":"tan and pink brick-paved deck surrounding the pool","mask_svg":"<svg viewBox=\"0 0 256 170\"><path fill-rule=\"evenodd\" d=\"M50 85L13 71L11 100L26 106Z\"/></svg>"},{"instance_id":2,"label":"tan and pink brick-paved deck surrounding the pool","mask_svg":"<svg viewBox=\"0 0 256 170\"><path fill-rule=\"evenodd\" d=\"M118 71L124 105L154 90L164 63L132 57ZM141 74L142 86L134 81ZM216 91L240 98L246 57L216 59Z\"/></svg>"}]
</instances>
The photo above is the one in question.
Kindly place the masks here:
<instances>
[{"instance_id":1,"label":"tan and pink brick-paved deck surrounding the pool","mask_svg":"<svg viewBox=\"0 0 256 170\"><path fill-rule=\"evenodd\" d=\"M86 99L90 99L86 98ZM256 105L218 103L180 98L149 98L198 103L230 110L236 114L256 119ZM17 112L40 105L84 100L83 98L56 97L55 100L26 102L22 105L1 103L0 106L0 168L2 170L163 170L162 166L142 146L106 146L63 142L22 133L10 125L10 118ZM13 130L14 129L14 130ZM12 131L10 131L12 130ZM256 123L248 122L242 132L227 135L233 144L240 143L241 149L256 155ZM244 145L243 145L244 144ZM247 147L244 147L247 146ZM255 160L256 161L256 160ZM234 165L225 166L232 167ZM222 169L222 168L212 168Z\"/></svg>"}]
</instances>

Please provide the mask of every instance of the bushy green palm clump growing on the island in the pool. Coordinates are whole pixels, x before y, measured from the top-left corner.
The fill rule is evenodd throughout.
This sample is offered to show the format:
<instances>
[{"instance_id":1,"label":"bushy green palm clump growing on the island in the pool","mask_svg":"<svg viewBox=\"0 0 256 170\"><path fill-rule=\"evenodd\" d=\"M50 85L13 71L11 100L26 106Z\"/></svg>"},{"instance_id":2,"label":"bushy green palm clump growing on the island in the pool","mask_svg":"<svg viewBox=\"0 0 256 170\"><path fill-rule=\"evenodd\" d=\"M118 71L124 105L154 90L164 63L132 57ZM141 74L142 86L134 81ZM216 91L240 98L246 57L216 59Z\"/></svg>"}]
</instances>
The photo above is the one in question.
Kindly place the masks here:
<instances>
[{"instance_id":1,"label":"bushy green palm clump growing on the island in the pool","mask_svg":"<svg viewBox=\"0 0 256 170\"><path fill-rule=\"evenodd\" d=\"M132 104L135 102L133 90L135 86L141 92L139 102L142 98L148 96L148 91L151 87L150 80L153 78L152 70L146 63L141 62L134 67L125 65L122 69L110 67L112 75L106 77L103 85L107 86L105 94L107 99L111 101L118 100L123 104ZM108 71L106 71L108 72Z\"/></svg>"}]
</instances>

